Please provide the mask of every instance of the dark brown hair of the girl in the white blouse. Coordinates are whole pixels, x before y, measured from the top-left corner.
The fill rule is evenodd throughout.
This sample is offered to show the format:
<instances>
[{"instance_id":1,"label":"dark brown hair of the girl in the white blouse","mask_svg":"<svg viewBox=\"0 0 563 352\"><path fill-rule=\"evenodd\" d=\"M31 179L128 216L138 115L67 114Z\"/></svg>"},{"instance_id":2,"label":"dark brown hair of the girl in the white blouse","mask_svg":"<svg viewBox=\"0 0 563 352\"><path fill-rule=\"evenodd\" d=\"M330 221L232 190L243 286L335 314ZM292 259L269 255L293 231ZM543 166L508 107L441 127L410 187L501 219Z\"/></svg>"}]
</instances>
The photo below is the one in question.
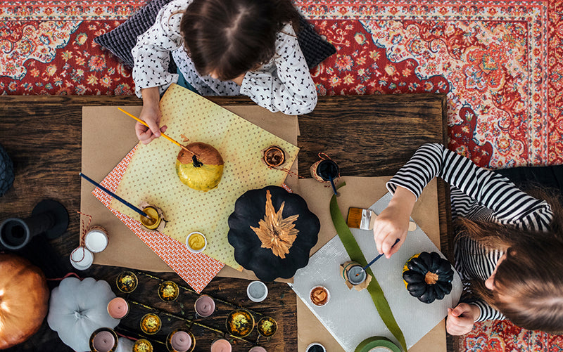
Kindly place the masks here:
<instances>
[{"instance_id":1,"label":"dark brown hair of the girl in the white blouse","mask_svg":"<svg viewBox=\"0 0 563 352\"><path fill-rule=\"evenodd\" d=\"M180 31L198 73L228 80L270 61L277 32L298 19L289 0L194 0Z\"/></svg>"}]
</instances>

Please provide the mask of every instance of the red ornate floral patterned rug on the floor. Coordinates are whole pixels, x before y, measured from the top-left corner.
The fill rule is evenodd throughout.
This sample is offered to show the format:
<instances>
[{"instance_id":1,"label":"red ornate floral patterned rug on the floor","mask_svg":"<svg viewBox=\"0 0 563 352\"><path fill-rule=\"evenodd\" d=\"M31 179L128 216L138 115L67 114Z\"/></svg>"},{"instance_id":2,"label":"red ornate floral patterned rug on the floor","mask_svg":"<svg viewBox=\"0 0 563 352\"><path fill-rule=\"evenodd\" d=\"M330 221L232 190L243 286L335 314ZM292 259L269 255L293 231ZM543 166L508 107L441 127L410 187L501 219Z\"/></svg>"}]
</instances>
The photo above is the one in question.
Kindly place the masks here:
<instances>
[{"instance_id":1,"label":"red ornate floral patterned rug on the floor","mask_svg":"<svg viewBox=\"0 0 563 352\"><path fill-rule=\"evenodd\" d=\"M94 44L146 0L3 1L0 93L130 95ZM563 163L563 1L295 0L338 53L320 95L445 92L449 148L483 167ZM462 351L562 351L563 338L476 325Z\"/></svg>"}]
</instances>

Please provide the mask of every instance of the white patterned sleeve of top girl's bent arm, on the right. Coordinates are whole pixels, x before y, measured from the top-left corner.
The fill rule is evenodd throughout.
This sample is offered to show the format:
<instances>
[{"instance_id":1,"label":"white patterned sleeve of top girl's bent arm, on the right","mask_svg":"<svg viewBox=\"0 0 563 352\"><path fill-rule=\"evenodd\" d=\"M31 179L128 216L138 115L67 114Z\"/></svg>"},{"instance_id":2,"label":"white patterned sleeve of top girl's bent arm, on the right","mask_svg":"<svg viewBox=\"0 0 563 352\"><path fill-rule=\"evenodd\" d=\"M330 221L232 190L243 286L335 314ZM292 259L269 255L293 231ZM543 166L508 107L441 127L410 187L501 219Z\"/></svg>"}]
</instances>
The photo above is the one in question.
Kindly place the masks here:
<instances>
[{"instance_id":1,"label":"white patterned sleeve of top girl's bent arm, on the right","mask_svg":"<svg viewBox=\"0 0 563 352\"><path fill-rule=\"evenodd\" d=\"M244 76L241 94L272 112L302 115L317 105L317 90L291 25L277 34L276 70L250 71Z\"/></svg>"}]
</instances>

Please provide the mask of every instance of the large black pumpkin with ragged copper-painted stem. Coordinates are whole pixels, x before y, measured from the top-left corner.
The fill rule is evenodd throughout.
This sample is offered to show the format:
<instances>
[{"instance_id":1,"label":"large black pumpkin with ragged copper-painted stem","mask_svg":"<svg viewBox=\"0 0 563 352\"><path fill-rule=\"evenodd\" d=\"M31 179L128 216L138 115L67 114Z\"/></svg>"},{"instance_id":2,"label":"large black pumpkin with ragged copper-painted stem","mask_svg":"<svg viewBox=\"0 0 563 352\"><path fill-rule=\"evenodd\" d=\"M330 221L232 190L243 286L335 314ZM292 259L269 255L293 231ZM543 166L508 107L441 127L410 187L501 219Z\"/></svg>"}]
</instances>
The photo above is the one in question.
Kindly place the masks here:
<instances>
[{"instance_id":1,"label":"large black pumpkin with ragged copper-painted stem","mask_svg":"<svg viewBox=\"0 0 563 352\"><path fill-rule=\"evenodd\" d=\"M276 238L278 231L274 231L271 238L267 237L272 242L280 242L281 247L268 247L263 233L260 233L269 227L265 226L268 218L282 219L286 234ZM273 281L291 278L298 268L307 265L319 230L319 219L300 195L270 185L260 190L249 190L236 200L234 212L229 216L227 237L234 247L237 263L253 270L260 280ZM286 237L291 237L291 243L283 241Z\"/></svg>"}]
</instances>

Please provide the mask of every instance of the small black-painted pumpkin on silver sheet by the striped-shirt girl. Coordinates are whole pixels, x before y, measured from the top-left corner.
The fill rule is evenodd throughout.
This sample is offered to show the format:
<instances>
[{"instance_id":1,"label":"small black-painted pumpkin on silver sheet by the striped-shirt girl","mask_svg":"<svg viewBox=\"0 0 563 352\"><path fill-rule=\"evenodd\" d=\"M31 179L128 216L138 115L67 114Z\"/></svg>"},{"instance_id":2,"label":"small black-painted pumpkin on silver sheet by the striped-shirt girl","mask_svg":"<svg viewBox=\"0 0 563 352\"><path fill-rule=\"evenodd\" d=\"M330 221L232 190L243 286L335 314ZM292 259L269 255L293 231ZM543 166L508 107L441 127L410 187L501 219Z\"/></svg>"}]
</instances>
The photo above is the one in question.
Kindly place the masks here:
<instances>
[{"instance_id":1,"label":"small black-painted pumpkin on silver sheet by the striped-shirt girl","mask_svg":"<svg viewBox=\"0 0 563 352\"><path fill-rule=\"evenodd\" d=\"M452 265L436 252L415 254L403 267L403 280L412 296L432 303L452 291Z\"/></svg>"}]
</instances>

